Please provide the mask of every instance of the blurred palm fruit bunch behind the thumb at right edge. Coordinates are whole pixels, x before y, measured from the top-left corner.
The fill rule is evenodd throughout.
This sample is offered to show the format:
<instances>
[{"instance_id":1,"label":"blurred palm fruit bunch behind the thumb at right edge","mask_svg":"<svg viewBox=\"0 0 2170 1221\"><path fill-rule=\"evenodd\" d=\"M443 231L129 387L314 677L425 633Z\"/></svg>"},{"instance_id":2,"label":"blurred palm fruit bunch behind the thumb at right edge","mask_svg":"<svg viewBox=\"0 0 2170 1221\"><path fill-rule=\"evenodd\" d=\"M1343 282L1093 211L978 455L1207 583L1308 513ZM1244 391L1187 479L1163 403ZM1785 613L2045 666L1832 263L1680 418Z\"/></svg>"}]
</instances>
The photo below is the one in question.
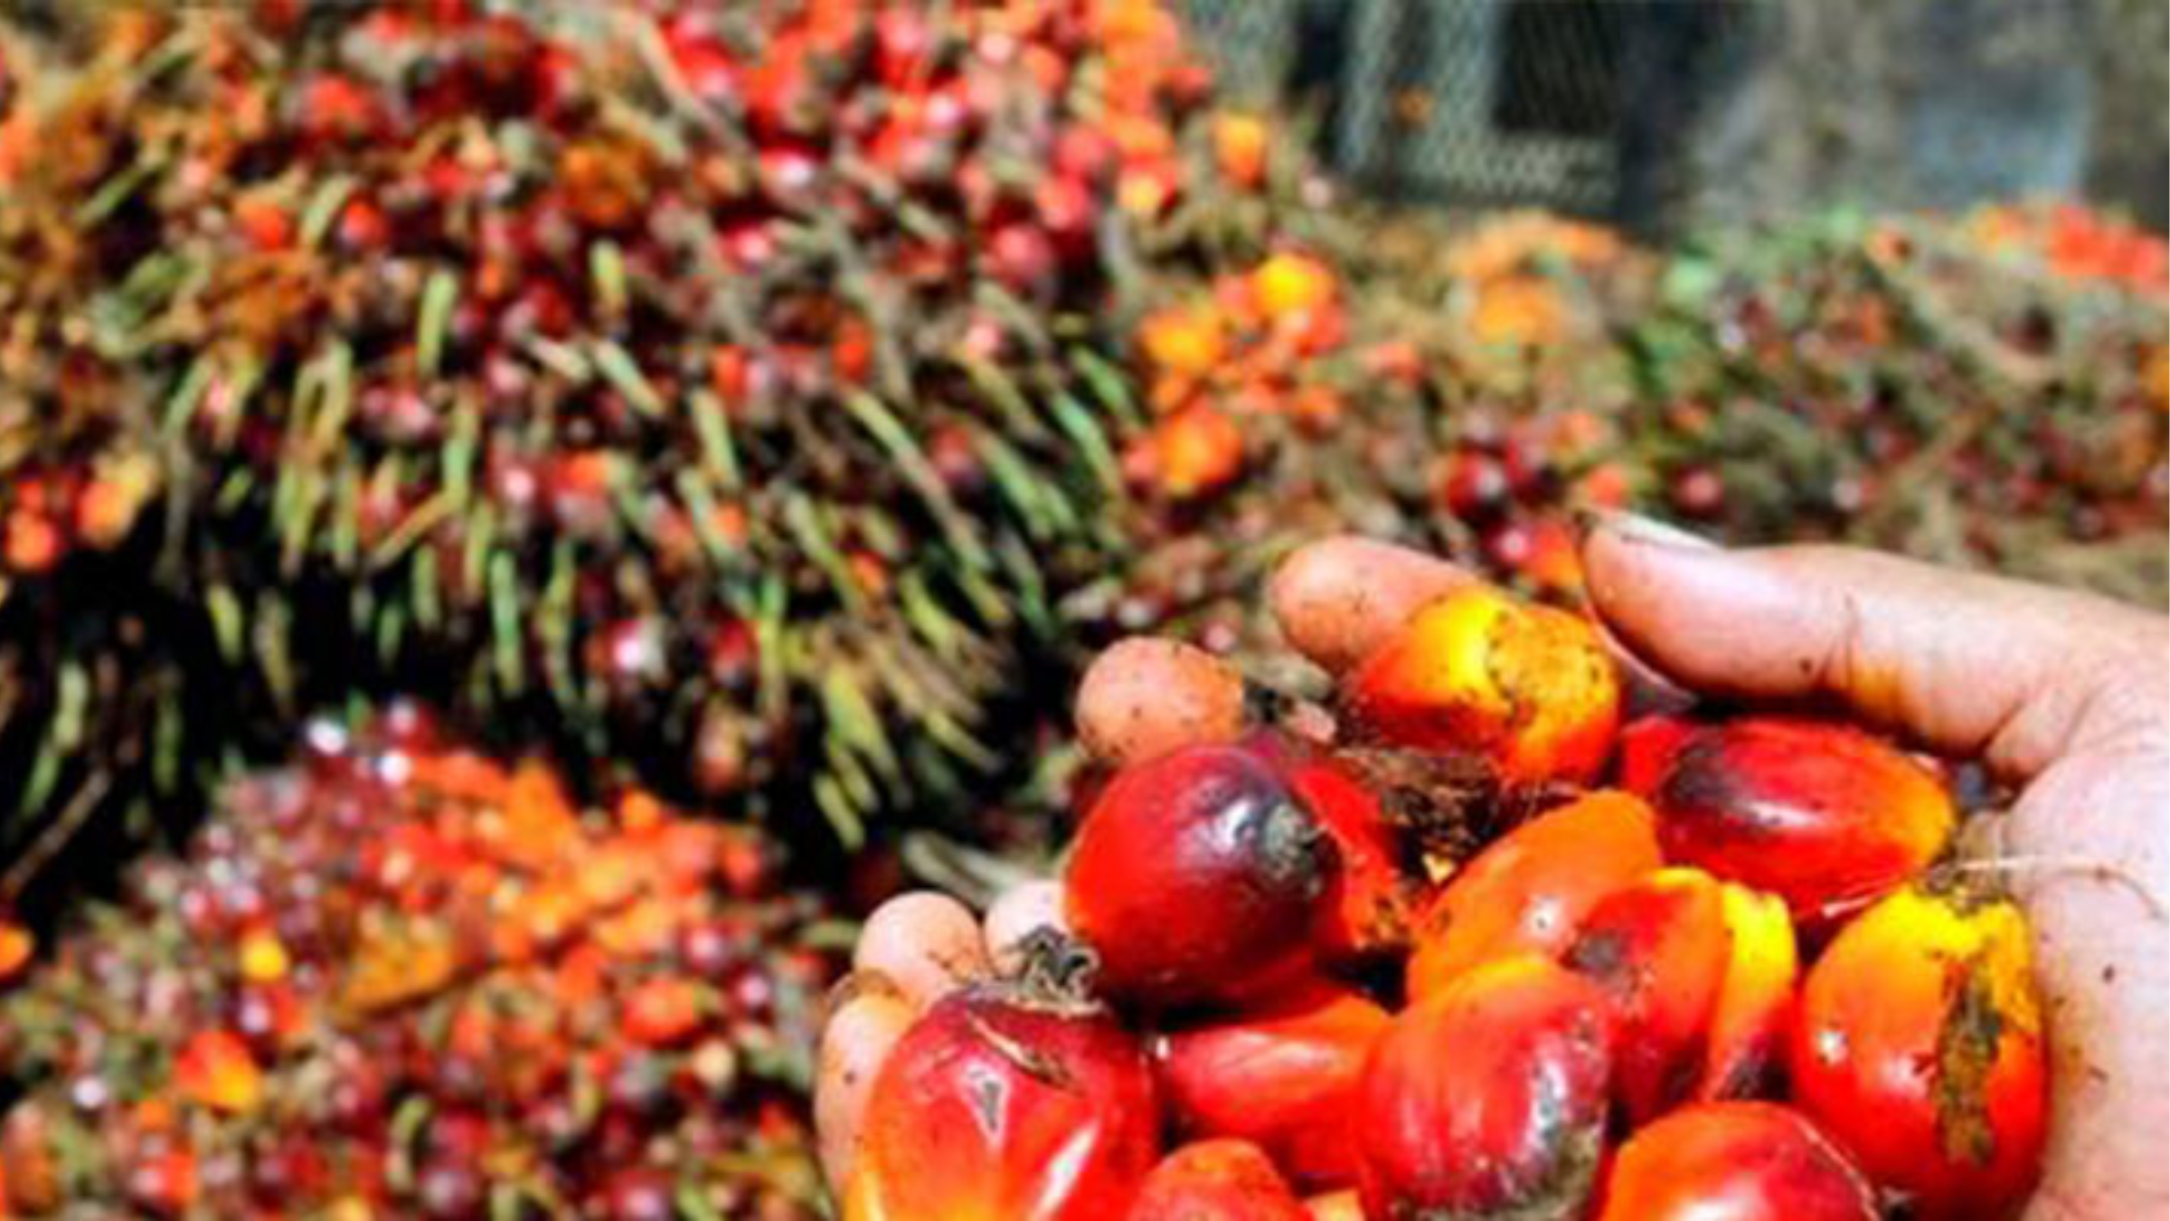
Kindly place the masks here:
<instances>
[{"instance_id":1,"label":"blurred palm fruit bunch behind the thumb at right edge","mask_svg":"<svg viewBox=\"0 0 2170 1221\"><path fill-rule=\"evenodd\" d=\"M1842 537L2159 604L2163 259L2077 206L1708 241L1625 326L1628 463L1729 537Z\"/></svg>"}]
</instances>

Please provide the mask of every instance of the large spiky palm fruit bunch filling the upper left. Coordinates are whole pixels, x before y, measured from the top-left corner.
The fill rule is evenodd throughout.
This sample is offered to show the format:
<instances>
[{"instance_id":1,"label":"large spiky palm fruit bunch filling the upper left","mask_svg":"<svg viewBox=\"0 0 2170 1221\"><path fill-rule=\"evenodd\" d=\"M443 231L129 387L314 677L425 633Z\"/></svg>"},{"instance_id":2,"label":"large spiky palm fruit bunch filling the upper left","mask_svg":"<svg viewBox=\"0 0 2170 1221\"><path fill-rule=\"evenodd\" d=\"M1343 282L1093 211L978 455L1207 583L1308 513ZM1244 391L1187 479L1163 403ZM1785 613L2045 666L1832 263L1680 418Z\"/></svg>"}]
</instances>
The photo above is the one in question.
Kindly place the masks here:
<instances>
[{"instance_id":1,"label":"large spiky palm fruit bunch filling the upper left","mask_svg":"<svg viewBox=\"0 0 2170 1221\"><path fill-rule=\"evenodd\" d=\"M1269 563L1202 526L1276 545L1235 471L1348 519L1280 458L1363 389L1295 335L1317 187L1154 0L150 2L0 61L33 815L412 691L855 845L987 789L994 693L1200 602L1137 552ZM1295 406L1150 419L1133 324L1217 276L1278 285Z\"/></svg>"}]
</instances>

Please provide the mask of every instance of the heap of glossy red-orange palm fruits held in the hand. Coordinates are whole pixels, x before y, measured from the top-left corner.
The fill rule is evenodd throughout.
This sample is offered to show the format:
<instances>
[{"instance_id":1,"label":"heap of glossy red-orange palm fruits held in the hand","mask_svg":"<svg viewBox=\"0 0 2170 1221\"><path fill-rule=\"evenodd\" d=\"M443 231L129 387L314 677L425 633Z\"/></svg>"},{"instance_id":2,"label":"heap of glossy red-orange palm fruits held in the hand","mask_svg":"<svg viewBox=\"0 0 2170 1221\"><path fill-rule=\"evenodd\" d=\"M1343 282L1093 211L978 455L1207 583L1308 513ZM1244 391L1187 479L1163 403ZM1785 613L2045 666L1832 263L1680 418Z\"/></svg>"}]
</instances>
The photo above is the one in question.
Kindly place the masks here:
<instances>
[{"instance_id":1,"label":"heap of glossy red-orange palm fruits held in the hand","mask_svg":"<svg viewBox=\"0 0 2170 1221\"><path fill-rule=\"evenodd\" d=\"M1471 584L1339 723L1128 763L1068 934L883 1062L846 1217L2016 1214L2042 1008L1940 765L1623 706L1593 626Z\"/></svg>"}]
</instances>

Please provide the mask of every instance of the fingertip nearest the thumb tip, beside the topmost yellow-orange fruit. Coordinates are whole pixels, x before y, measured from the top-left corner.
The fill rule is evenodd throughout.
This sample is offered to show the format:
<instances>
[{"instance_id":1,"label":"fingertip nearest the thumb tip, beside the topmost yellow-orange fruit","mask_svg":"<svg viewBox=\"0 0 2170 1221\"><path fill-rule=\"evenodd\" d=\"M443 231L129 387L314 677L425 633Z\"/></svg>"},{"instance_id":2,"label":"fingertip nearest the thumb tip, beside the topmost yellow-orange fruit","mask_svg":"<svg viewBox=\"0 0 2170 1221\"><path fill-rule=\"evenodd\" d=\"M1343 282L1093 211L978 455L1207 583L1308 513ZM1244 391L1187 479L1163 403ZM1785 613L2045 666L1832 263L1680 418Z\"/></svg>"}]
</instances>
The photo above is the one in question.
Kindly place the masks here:
<instances>
[{"instance_id":1,"label":"fingertip nearest the thumb tip, beside the topmost yellow-orange fruit","mask_svg":"<svg viewBox=\"0 0 2170 1221\"><path fill-rule=\"evenodd\" d=\"M1289 643L1341 674L1426 602L1476 580L1421 552L1341 537L1311 543L1282 561L1267 600Z\"/></svg>"}]
</instances>

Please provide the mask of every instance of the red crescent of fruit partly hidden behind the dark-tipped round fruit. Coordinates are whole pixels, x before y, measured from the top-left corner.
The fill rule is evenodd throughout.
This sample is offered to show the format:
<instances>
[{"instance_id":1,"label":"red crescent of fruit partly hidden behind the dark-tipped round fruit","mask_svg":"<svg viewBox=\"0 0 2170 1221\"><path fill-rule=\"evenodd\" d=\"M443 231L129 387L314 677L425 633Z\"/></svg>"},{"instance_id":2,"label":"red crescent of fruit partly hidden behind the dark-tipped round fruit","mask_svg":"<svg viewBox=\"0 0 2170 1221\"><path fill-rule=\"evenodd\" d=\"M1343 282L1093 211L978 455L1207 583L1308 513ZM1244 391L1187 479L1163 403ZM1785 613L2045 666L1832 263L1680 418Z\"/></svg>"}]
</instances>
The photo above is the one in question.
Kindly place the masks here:
<instances>
[{"instance_id":1,"label":"red crescent of fruit partly hidden behind the dark-tipped round fruit","mask_svg":"<svg viewBox=\"0 0 2170 1221\"><path fill-rule=\"evenodd\" d=\"M1332 756L1276 732L1254 732L1243 745L1280 769L1298 800L1335 841L1341 867L1317 912L1313 941L1335 960L1371 958L1408 947L1417 878L1404 869L1400 828L1369 786Z\"/></svg>"}]
</instances>

